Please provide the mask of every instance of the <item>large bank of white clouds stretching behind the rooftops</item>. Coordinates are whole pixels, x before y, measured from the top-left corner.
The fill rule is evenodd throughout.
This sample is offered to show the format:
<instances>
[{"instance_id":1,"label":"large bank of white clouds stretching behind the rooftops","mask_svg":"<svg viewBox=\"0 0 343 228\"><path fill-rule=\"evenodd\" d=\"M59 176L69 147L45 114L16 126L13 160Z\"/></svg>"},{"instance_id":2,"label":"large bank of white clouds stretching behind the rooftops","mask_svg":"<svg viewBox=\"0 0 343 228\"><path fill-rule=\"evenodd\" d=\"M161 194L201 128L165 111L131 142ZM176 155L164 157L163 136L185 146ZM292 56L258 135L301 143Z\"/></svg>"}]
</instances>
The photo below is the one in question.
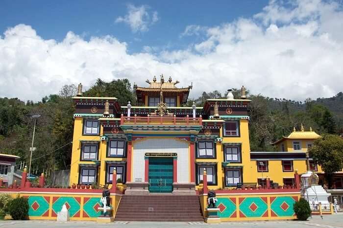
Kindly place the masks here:
<instances>
[{"instance_id":1,"label":"large bank of white clouds stretching behind the rooftops","mask_svg":"<svg viewBox=\"0 0 343 228\"><path fill-rule=\"evenodd\" d=\"M343 85L342 8L332 1L301 2L288 10L272 1L262 12L268 20L258 14L206 28L198 33L202 42L185 49L144 47L135 54L112 36L86 41L69 32L57 42L19 24L0 38L0 97L40 100L64 84L82 82L87 88L98 77L126 77L145 86L161 73L180 86L193 82L190 97L242 85L270 97L329 97Z\"/></svg>"}]
</instances>

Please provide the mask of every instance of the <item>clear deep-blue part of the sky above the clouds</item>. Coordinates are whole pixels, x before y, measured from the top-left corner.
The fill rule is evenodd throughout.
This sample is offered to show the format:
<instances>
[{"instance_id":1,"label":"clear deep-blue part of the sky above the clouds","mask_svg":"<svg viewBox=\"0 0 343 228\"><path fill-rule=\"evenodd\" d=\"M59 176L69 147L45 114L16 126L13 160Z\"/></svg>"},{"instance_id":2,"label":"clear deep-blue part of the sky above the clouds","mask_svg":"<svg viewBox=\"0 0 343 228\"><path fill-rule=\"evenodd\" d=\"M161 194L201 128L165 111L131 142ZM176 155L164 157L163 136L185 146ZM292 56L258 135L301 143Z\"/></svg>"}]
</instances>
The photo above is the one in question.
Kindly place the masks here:
<instances>
[{"instance_id":1,"label":"clear deep-blue part of the sky above the clouds","mask_svg":"<svg viewBox=\"0 0 343 228\"><path fill-rule=\"evenodd\" d=\"M158 12L159 20L149 27L148 32L133 33L126 24L115 23L118 17L126 14L128 4L146 5L148 11ZM131 53L141 51L143 46L176 49L194 42L194 37L179 37L189 24L211 27L232 22L260 12L267 4L267 0L4 0L0 7L0 31L25 23L44 39L61 41L67 32L73 31L85 39L112 35L128 43Z\"/></svg>"}]
</instances>

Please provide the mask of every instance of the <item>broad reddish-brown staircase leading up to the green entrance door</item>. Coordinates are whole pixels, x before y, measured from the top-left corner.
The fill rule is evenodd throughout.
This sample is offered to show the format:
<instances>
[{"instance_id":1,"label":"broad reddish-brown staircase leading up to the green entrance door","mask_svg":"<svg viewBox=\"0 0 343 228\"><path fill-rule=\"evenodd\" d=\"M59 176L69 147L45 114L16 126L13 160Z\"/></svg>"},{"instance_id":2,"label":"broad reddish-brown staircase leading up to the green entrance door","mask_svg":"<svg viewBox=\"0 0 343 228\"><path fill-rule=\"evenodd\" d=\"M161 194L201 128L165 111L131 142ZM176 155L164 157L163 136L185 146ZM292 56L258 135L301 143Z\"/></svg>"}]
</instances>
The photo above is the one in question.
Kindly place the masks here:
<instances>
[{"instance_id":1,"label":"broad reddish-brown staircase leading up to the green entrance door","mask_svg":"<svg viewBox=\"0 0 343 228\"><path fill-rule=\"evenodd\" d=\"M116 221L204 221L198 196L123 195Z\"/></svg>"}]
</instances>

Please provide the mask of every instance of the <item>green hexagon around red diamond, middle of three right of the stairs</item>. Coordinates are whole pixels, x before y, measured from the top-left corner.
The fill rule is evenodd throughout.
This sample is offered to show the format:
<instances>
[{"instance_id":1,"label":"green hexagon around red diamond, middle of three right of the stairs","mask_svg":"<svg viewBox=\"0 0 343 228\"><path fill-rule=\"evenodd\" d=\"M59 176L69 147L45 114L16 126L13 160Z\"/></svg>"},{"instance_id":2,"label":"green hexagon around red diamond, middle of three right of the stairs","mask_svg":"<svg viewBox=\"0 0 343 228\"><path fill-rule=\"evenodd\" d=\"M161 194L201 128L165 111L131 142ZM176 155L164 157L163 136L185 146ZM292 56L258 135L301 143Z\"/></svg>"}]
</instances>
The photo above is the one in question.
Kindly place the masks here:
<instances>
[{"instance_id":1,"label":"green hexagon around red diamond, middle of three right of the stairs","mask_svg":"<svg viewBox=\"0 0 343 228\"><path fill-rule=\"evenodd\" d=\"M257 208L254 211L251 209L251 205L255 204ZM246 217L262 217L267 211L268 205L260 197L247 197L240 204L240 211L245 214Z\"/></svg>"}]
</instances>

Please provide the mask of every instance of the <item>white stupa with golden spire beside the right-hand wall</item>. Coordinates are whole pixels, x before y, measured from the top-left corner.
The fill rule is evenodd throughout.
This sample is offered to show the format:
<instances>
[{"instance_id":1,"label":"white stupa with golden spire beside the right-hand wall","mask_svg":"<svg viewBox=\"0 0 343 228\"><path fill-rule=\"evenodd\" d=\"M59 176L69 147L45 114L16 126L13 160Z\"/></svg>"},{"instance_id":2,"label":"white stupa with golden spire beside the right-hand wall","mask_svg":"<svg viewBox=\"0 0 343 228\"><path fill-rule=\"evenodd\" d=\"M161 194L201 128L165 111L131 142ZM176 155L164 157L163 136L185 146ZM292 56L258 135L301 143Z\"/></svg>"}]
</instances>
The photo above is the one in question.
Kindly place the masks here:
<instances>
[{"instance_id":1,"label":"white stupa with golden spire beside the right-hand wall","mask_svg":"<svg viewBox=\"0 0 343 228\"><path fill-rule=\"evenodd\" d=\"M331 196L325 189L318 184L319 177L314 172L310 171L310 162L308 154L306 155L307 172L301 175L301 195L307 200L314 209L313 204L317 205L321 203L322 208L326 208L330 205L328 197Z\"/></svg>"}]
</instances>

